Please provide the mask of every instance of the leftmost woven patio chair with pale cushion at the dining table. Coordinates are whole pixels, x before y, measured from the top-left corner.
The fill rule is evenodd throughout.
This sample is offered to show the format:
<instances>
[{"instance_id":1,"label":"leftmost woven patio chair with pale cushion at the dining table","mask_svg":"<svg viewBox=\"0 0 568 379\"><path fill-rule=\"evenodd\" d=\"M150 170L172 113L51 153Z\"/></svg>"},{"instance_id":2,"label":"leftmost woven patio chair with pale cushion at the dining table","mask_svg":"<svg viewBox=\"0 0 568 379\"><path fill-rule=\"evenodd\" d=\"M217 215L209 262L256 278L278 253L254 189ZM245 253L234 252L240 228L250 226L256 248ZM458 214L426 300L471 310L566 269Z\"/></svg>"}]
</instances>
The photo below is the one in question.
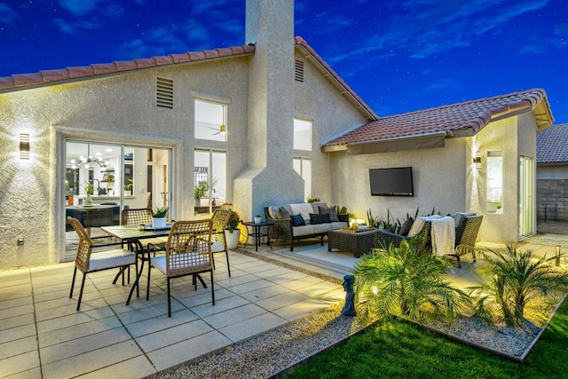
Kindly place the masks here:
<instances>
[{"instance_id":1,"label":"leftmost woven patio chair with pale cushion at the dining table","mask_svg":"<svg viewBox=\"0 0 568 379\"><path fill-rule=\"evenodd\" d=\"M73 289L75 288L75 277L77 275L77 270L83 272L83 280L81 280L81 291L79 292L79 299L77 301L77 311L79 311L81 307L81 299L83 298L85 279L88 273L108 270L112 268L119 268L121 269L121 271L119 271L116 277L114 277L113 283L115 283L118 279L118 276L124 272L125 268L130 267L130 265L135 265L136 272L138 272L138 259L136 258L136 253L134 251L122 248L122 242L98 244L93 243L91 236L89 235L89 233L87 233L79 220L73 217L67 217L67 220L69 224L73 226L75 233L77 233L79 236L77 257L75 257L75 270L73 271L73 280L71 281L71 292L69 292L69 298L73 298ZM118 245L121 246L120 249L112 249L96 253L92 252L93 248ZM124 277L122 277L122 285L124 285Z\"/></svg>"}]
</instances>

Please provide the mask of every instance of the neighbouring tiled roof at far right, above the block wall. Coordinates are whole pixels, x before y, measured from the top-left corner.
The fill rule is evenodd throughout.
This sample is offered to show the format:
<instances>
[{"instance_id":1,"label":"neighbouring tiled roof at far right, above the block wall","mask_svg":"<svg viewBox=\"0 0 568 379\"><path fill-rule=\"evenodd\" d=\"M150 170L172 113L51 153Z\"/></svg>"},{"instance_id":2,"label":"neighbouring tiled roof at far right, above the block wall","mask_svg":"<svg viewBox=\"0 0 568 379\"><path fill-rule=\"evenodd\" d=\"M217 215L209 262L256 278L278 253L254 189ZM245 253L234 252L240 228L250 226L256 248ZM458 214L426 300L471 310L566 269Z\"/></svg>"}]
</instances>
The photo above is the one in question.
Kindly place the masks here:
<instances>
[{"instance_id":1,"label":"neighbouring tiled roof at far right, above the block wall","mask_svg":"<svg viewBox=\"0 0 568 379\"><path fill-rule=\"evenodd\" d=\"M537 163L568 163L568 123L542 130L536 138Z\"/></svg>"}]
</instances>

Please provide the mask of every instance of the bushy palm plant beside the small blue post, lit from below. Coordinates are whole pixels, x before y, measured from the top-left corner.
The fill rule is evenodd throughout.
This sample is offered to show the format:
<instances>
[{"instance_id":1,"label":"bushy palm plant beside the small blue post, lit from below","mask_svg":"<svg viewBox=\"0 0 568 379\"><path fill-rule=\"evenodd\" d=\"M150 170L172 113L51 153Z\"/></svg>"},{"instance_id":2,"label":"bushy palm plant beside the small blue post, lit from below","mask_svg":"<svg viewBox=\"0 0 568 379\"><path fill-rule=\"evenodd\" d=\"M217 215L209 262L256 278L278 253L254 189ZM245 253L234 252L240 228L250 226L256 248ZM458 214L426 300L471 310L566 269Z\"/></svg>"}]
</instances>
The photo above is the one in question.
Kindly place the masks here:
<instances>
[{"instance_id":1,"label":"bushy palm plant beside the small blue post, lit from below","mask_svg":"<svg viewBox=\"0 0 568 379\"><path fill-rule=\"evenodd\" d=\"M352 270L359 317L387 320L401 315L411 320L445 316L449 322L470 306L469 296L453 288L442 275L451 264L421 248L422 237L402 241L399 247L374 249Z\"/></svg>"}]
</instances>

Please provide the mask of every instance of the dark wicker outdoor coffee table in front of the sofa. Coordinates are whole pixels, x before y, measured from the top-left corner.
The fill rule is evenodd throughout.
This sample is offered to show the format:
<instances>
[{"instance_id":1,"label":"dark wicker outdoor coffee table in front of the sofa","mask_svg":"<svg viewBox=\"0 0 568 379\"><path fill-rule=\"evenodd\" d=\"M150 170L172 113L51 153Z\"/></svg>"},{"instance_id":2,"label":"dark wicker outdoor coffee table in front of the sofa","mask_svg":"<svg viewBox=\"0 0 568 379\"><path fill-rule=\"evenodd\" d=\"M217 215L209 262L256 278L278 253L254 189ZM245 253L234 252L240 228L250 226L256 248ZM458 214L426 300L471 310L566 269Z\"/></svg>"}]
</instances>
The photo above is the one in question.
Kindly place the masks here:
<instances>
[{"instance_id":1,"label":"dark wicker outdoor coffee table in front of the sofa","mask_svg":"<svg viewBox=\"0 0 568 379\"><path fill-rule=\"evenodd\" d=\"M359 258L376 248L376 233L378 229L364 230L337 229L327 233L327 251L339 249L353 253Z\"/></svg>"}]
</instances>

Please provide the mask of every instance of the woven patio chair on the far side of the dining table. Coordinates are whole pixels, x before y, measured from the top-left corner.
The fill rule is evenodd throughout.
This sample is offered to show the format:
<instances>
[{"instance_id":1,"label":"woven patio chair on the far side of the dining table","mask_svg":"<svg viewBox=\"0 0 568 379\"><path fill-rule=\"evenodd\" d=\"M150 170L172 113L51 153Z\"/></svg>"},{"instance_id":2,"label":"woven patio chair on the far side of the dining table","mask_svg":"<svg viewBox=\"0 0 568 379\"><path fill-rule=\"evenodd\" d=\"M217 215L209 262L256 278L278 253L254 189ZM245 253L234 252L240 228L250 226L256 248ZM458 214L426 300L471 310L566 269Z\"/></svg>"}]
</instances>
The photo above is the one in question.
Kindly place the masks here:
<instances>
[{"instance_id":1,"label":"woven patio chair on the far side of the dining table","mask_svg":"<svg viewBox=\"0 0 568 379\"><path fill-rule=\"evenodd\" d=\"M127 208L122 209L121 224L122 225L152 225L154 211L149 208ZM140 254L138 257L148 263L148 275L146 282L146 300L150 299L150 276L152 272L152 258L156 256L156 251L166 249L167 238L148 238L140 240L142 247L147 250L148 254Z\"/></svg>"}]
</instances>

